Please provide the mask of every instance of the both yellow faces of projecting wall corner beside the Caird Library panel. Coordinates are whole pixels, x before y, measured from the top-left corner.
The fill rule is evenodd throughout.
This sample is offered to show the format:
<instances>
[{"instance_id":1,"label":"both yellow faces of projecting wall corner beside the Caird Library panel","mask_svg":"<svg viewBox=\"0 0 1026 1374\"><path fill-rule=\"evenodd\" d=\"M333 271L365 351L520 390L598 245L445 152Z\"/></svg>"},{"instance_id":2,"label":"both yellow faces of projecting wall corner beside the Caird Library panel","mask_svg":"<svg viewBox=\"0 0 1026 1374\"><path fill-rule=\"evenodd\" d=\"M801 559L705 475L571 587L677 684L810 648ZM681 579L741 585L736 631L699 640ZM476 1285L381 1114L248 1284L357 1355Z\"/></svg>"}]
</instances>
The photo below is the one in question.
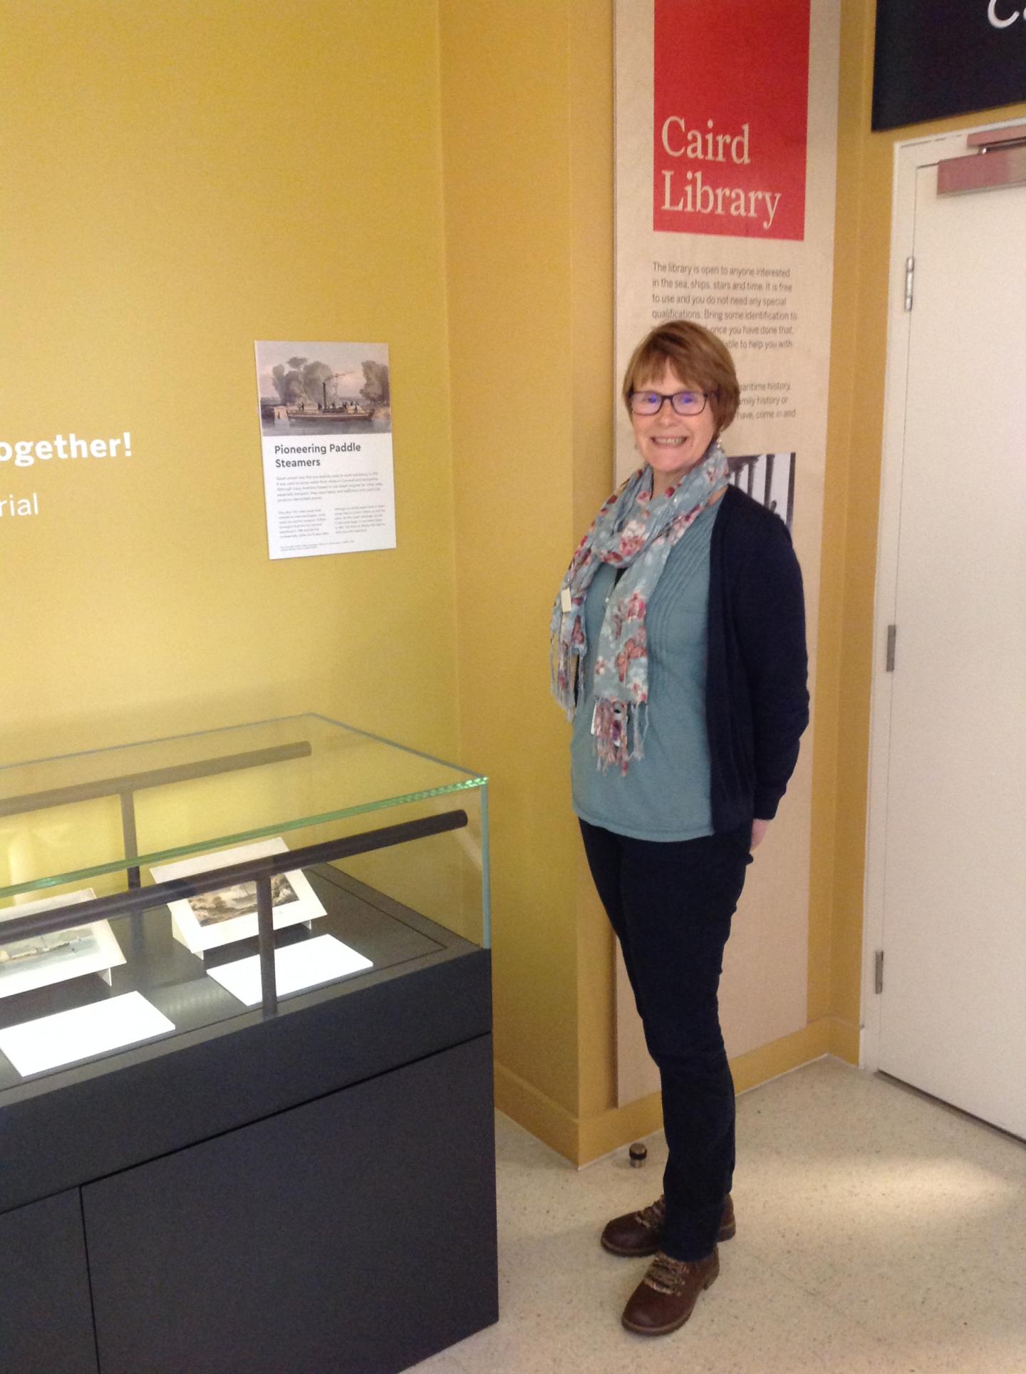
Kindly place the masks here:
<instances>
[{"instance_id":1,"label":"both yellow faces of projecting wall corner beside the Caird Library panel","mask_svg":"<svg viewBox=\"0 0 1026 1374\"><path fill-rule=\"evenodd\" d=\"M500 1105L571 1158L613 1101L547 627L611 480L611 4L442 0L463 752L492 779Z\"/></svg>"}]
</instances>

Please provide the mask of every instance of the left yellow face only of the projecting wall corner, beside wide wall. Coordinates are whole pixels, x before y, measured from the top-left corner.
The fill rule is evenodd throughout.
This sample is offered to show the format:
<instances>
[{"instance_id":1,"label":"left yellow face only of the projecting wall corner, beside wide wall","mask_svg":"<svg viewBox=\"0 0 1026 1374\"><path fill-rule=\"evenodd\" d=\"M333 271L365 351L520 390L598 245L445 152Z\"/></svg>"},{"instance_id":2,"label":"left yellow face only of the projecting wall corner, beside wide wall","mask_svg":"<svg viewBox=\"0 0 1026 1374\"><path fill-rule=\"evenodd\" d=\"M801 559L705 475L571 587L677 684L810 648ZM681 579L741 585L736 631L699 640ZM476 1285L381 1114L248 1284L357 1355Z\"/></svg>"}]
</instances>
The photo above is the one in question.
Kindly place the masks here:
<instances>
[{"instance_id":1,"label":"left yellow face only of the projecting wall corner, beside wide wall","mask_svg":"<svg viewBox=\"0 0 1026 1374\"><path fill-rule=\"evenodd\" d=\"M570 815L544 699L571 500L566 16L440 15L463 752L493 779L499 1094L573 1114Z\"/></svg>"}]
</instances>

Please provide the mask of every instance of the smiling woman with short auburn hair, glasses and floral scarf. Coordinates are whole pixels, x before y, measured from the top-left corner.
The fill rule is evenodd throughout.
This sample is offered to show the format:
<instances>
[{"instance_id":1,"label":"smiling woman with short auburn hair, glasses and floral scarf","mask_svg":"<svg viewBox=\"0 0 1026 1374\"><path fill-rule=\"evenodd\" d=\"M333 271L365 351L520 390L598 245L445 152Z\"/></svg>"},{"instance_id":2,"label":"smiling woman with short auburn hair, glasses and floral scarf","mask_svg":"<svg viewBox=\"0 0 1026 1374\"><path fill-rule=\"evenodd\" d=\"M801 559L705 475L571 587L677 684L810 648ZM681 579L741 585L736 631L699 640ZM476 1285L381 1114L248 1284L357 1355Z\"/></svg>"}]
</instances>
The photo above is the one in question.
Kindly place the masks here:
<instances>
[{"instance_id":1,"label":"smiling woman with short auburn hair, glasses and floral scarf","mask_svg":"<svg viewBox=\"0 0 1026 1374\"><path fill-rule=\"evenodd\" d=\"M689 320L635 350L624 403L641 467L581 540L552 611L573 719L574 811L659 1068L663 1197L615 1217L614 1254L655 1259L624 1311L681 1326L735 1231L722 951L809 719L798 562L779 517L728 482L733 363Z\"/></svg>"}]
</instances>

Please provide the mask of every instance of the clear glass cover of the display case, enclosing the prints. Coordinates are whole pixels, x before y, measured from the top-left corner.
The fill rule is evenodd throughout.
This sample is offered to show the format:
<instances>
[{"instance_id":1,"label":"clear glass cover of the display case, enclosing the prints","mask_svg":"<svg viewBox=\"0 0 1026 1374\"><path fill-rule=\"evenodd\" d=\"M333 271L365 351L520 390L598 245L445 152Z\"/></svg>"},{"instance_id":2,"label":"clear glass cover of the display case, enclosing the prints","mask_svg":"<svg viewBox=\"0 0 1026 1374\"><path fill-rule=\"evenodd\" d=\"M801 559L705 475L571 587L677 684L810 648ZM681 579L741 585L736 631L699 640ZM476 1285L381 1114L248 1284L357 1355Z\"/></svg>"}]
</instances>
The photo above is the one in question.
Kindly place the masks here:
<instances>
[{"instance_id":1,"label":"clear glass cover of the display case, enclosing the prints","mask_svg":"<svg viewBox=\"0 0 1026 1374\"><path fill-rule=\"evenodd\" d=\"M282 866L264 956L283 1011L453 943L488 947L486 793L479 774L317 714L0 768L0 1092L27 1076L5 1033L43 1073L139 1044L139 999L150 1039L255 1014L257 881L166 886L202 886L225 864ZM371 849L331 856L368 833ZM21 918L44 908L51 929L26 934Z\"/></svg>"}]
</instances>

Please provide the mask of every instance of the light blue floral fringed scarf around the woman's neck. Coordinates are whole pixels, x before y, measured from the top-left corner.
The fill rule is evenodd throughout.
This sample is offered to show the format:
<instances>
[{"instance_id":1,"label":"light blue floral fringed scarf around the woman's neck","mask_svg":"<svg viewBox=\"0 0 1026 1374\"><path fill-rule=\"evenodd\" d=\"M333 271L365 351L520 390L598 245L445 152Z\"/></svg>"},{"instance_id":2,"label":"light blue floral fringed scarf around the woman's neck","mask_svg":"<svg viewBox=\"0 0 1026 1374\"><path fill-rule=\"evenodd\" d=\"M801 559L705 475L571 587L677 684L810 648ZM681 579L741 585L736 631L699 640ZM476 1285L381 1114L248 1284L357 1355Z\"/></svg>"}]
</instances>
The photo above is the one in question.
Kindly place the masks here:
<instances>
[{"instance_id":1,"label":"light blue floral fringed scarf around the woman's neck","mask_svg":"<svg viewBox=\"0 0 1026 1374\"><path fill-rule=\"evenodd\" d=\"M646 611L670 550L727 486L727 455L716 440L680 485L652 497L652 473L639 469L608 497L570 559L552 607L552 695L573 720L588 651L584 603L602 563L625 569L606 603L595 657L592 735L599 768L628 771L644 754L648 703Z\"/></svg>"}]
</instances>

